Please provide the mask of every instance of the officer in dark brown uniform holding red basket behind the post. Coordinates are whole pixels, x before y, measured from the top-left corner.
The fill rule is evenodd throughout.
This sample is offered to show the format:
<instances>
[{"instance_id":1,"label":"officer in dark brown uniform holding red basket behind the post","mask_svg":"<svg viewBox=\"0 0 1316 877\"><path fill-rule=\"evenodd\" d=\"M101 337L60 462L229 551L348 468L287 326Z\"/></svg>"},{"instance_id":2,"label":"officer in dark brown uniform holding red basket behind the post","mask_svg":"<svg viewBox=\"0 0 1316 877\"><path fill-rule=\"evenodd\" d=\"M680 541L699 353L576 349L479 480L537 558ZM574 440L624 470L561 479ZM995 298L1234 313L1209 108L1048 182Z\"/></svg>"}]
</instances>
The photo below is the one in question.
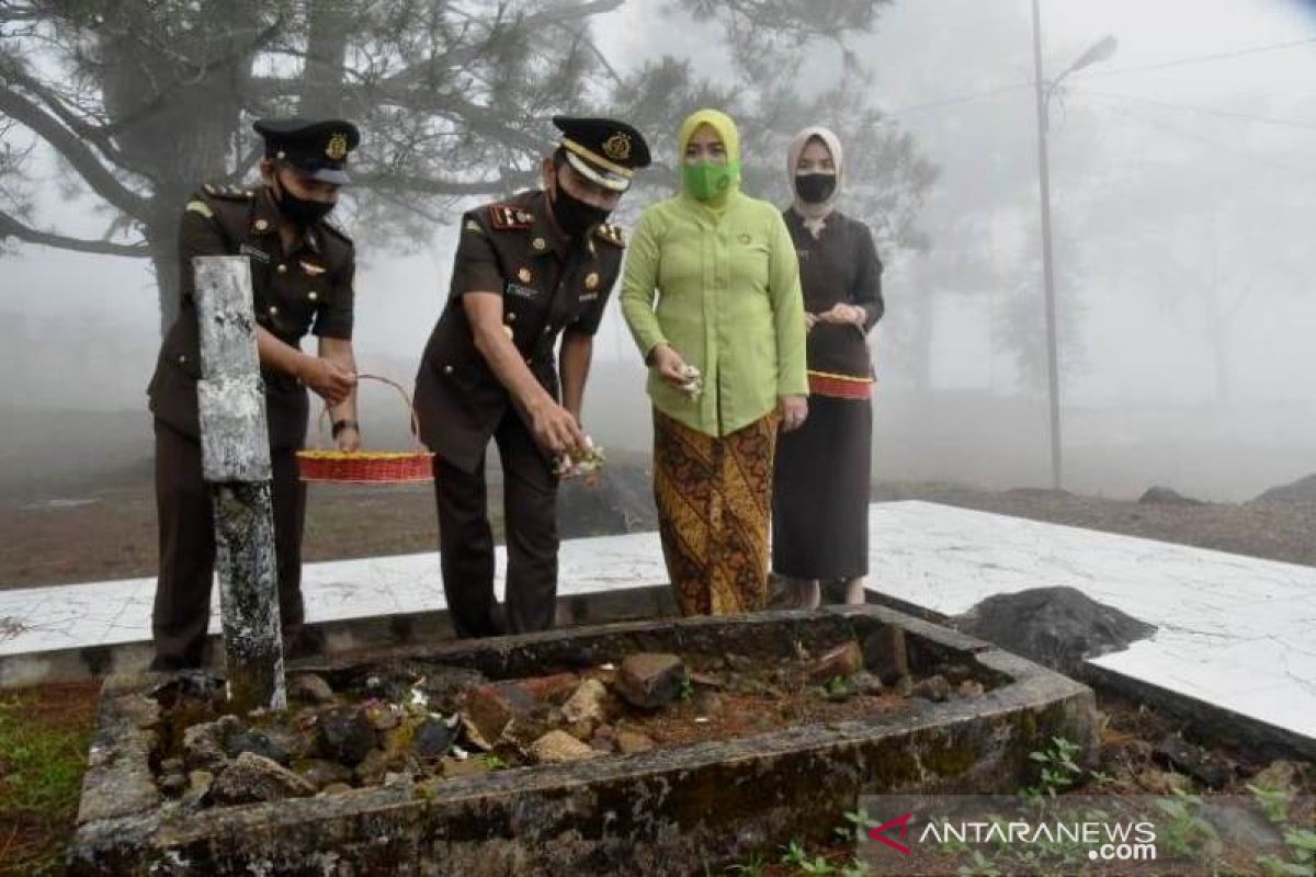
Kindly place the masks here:
<instances>
[{"instance_id":1,"label":"officer in dark brown uniform holding red basket behind the post","mask_svg":"<svg viewBox=\"0 0 1316 877\"><path fill-rule=\"evenodd\" d=\"M151 631L153 669L199 667L209 622L215 565L211 498L201 480L196 381L200 377L192 256L251 262L257 348L266 391L274 468L274 535L284 652L313 650L303 635L301 527L305 485L296 451L307 433L309 387L330 406L341 450L361 437L351 351L351 241L325 214L349 181L343 170L359 134L350 122L261 120L261 185L205 185L187 202L179 230L182 302L164 337L147 393L155 415L159 582ZM317 355L300 350L313 331Z\"/></svg>"}]
</instances>

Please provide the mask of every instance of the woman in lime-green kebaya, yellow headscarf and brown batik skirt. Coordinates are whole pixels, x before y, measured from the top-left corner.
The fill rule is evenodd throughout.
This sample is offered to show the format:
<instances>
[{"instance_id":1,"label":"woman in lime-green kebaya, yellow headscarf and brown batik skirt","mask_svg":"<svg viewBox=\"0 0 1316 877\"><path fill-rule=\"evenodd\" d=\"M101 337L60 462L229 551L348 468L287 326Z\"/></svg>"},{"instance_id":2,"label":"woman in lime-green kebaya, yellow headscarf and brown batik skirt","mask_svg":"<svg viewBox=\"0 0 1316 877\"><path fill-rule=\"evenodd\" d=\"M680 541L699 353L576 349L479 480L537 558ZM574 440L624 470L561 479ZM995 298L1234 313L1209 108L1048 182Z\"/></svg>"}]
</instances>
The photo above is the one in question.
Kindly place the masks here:
<instances>
[{"instance_id":1,"label":"woman in lime-green kebaya, yellow headscarf and brown batik skirt","mask_svg":"<svg viewBox=\"0 0 1316 877\"><path fill-rule=\"evenodd\" d=\"M767 604L778 429L808 415L804 300L782 214L740 191L740 134L701 109L678 134L680 192L640 217L621 308L649 364L654 497L687 615Z\"/></svg>"}]
</instances>

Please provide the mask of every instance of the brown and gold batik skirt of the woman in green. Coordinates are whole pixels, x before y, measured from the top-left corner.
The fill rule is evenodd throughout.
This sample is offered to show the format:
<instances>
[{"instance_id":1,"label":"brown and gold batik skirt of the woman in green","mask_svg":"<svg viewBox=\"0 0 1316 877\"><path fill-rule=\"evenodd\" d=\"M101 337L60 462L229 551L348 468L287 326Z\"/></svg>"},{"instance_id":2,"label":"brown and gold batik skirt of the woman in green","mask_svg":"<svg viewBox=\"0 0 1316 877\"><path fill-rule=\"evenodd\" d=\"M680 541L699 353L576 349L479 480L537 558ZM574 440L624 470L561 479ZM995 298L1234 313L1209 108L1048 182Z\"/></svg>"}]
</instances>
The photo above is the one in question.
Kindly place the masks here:
<instances>
[{"instance_id":1,"label":"brown and gold batik skirt of the woman in green","mask_svg":"<svg viewBox=\"0 0 1316 877\"><path fill-rule=\"evenodd\" d=\"M713 438L654 410L654 498L667 575L686 615L767 605L776 412Z\"/></svg>"}]
</instances>

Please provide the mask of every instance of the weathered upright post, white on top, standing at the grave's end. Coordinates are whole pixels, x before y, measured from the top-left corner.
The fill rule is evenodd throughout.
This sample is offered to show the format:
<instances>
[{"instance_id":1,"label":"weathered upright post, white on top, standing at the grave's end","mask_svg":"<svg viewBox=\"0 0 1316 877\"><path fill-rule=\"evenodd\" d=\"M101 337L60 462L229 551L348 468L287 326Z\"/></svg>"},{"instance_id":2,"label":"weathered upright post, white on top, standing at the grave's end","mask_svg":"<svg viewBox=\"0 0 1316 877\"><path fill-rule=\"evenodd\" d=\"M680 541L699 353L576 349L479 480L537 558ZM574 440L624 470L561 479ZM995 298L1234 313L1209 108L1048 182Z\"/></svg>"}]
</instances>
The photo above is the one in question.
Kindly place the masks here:
<instances>
[{"instance_id":1,"label":"weathered upright post, white on top, standing at the grave's end","mask_svg":"<svg viewBox=\"0 0 1316 877\"><path fill-rule=\"evenodd\" d=\"M201 475L215 509L215 568L237 711L283 710L279 576L274 554L270 438L255 351L246 256L197 256Z\"/></svg>"}]
</instances>

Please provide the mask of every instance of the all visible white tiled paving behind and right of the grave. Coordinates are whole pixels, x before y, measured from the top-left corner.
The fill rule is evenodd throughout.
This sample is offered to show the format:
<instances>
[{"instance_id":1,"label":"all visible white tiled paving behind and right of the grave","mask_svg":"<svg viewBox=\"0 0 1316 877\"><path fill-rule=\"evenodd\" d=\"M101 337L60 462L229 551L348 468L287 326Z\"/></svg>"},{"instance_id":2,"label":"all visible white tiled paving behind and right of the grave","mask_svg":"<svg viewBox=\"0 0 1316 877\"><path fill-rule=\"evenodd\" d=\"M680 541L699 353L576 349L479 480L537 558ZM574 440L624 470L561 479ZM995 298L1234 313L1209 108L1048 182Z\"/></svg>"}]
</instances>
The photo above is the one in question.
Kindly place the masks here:
<instances>
[{"instance_id":1,"label":"all visible white tiled paving behind and right of the grave","mask_svg":"<svg viewBox=\"0 0 1316 877\"><path fill-rule=\"evenodd\" d=\"M1070 585L1158 626L1096 664L1316 738L1316 568L928 502L874 505L870 588L959 614ZM499 548L499 588L504 568ZM561 592L662 582L657 534L562 546ZM154 579L0 592L0 656L150 639ZM436 554L308 564L311 621L445 606ZM217 617L212 630L217 630Z\"/></svg>"}]
</instances>

